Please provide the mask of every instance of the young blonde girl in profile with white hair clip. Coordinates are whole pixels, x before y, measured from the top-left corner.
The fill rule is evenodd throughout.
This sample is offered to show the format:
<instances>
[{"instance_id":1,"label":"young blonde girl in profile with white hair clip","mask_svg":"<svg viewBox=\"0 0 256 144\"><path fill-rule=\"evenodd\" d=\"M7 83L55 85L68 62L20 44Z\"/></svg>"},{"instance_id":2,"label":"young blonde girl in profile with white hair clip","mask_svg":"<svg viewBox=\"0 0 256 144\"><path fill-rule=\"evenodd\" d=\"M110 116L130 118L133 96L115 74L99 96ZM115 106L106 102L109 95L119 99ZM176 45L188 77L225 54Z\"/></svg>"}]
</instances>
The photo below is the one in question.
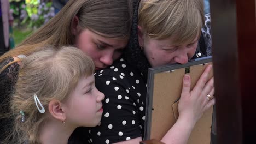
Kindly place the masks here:
<instances>
[{"instance_id":1,"label":"young blonde girl in profile with white hair clip","mask_svg":"<svg viewBox=\"0 0 256 144\"><path fill-rule=\"evenodd\" d=\"M6 143L67 143L75 128L100 123L104 94L95 87L91 58L71 46L43 49L21 60Z\"/></svg>"}]
</instances>

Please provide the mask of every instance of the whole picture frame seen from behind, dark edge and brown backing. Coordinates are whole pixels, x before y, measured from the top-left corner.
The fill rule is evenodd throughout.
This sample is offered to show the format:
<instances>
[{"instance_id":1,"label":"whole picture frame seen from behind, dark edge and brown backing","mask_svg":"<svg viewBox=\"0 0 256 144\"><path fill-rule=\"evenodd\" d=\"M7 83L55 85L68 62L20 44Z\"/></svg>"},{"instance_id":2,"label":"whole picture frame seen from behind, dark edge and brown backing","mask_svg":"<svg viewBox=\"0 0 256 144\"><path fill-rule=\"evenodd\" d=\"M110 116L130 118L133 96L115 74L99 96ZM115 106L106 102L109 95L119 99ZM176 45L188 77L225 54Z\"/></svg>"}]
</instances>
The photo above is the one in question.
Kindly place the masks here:
<instances>
[{"instance_id":1,"label":"whole picture frame seen from behind, dark edge and brown backing","mask_svg":"<svg viewBox=\"0 0 256 144\"><path fill-rule=\"evenodd\" d=\"M211 64L211 61L211 57L205 57L185 65L170 65L149 69L144 139L161 140L176 122L178 99L182 91L185 68L189 67L190 69L191 88L193 88L206 66ZM209 78L213 76L212 71ZM189 137L189 144L210 144L212 113L212 108L207 110L196 123Z\"/></svg>"}]
</instances>

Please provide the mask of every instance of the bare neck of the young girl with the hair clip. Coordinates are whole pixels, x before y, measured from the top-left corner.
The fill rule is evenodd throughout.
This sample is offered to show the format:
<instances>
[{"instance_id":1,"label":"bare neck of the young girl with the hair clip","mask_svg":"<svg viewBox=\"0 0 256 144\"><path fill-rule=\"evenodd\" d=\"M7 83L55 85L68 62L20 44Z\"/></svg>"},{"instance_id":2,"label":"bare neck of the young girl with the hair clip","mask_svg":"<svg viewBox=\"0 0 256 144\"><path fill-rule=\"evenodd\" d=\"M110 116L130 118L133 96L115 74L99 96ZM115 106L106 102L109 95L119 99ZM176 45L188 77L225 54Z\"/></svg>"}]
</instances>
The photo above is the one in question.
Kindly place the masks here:
<instances>
[{"instance_id":1,"label":"bare neck of the young girl with the hair clip","mask_svg":"<svg viewBox=\"0 0 256 144\"><path fill-rule=\"evenodd\" d=\"M74 129L75 127L71 127L66 123L62 124L60 121L48 121L40 129L40 141L43 144L68 143L68 138Z\"/></svg>"}]
</instances>

